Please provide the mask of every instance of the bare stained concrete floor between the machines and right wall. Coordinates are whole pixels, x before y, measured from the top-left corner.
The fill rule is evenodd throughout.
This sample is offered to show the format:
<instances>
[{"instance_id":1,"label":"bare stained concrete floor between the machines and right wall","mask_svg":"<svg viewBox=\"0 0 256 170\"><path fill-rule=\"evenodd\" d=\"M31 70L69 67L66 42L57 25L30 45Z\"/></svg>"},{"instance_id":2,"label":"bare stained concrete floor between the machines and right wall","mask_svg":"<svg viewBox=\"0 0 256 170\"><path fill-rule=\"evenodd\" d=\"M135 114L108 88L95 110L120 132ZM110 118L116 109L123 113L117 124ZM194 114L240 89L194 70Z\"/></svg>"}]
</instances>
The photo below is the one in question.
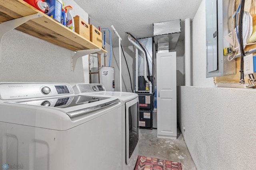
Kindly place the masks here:
<instances>
[{"instance_id":1,"label":"bare stained concrete floor between the machines and right wall","mask_svg":"<svg viewBox=\"0 0 256 170\"><path fill-rule=\"evenodd\" d=\"M177 139L157 138L157 130L140 129L139 155L180 162L182 170L196 170L196 166L180 129Z\"/></svg>"}]
</instances>

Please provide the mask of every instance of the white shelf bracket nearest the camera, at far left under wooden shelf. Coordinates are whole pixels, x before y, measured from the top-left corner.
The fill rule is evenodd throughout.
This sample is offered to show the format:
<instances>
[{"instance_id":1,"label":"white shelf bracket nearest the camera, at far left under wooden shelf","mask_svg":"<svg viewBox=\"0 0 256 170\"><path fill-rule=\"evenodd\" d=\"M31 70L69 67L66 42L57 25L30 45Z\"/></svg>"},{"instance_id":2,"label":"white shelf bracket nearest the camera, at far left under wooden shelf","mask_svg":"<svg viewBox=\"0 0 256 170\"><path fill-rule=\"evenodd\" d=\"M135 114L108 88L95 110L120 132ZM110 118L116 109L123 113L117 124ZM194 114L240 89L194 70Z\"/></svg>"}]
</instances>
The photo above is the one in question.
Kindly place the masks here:
<instances>
[{"instance_id":1,"label":"white shelf bracket nearest the camera, at far left under wooden shelf","mask_svg":"<svg viewBox=\"0 0 256 170\"><path fill-rule=\"evenodd\" d=\"M36 13L29 16L23 16L0 24L0 63L2 62L2 38L4 34L24 24L25 22L43 16L42 14Z\"/></svg>"}]
</instances>

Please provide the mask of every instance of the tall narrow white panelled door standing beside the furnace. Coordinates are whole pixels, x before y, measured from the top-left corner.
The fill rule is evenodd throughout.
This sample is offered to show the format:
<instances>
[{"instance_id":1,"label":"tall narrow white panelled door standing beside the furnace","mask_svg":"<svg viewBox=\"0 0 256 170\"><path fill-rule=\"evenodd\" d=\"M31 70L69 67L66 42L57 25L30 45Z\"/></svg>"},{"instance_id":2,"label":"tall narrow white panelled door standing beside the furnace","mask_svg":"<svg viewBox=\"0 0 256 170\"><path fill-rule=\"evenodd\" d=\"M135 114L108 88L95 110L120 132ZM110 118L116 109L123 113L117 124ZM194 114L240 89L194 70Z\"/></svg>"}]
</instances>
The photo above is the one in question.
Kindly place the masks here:
<instances>
[{"instance_id":1,"label":"tall narrow white panelled door standing beside the furnace","mask_svg":"<svg viewBox=\"0 0 256 170\"><path fill-rule=\"evenodd\" d=\"M176 52L156 54L157 137L177 136Z\"/></svg>"}]
</instances>

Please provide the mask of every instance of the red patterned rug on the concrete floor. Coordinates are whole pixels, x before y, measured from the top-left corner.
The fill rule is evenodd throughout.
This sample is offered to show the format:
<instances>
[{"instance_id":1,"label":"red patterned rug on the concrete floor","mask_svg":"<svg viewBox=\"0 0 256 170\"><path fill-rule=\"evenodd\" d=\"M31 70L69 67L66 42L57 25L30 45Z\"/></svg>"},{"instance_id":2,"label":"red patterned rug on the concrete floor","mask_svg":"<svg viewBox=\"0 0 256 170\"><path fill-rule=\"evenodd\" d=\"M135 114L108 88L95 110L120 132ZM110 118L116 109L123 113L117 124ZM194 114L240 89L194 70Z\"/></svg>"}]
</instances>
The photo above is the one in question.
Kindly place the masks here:
<instances>
[{"instance_id":1,"label":"red patterned rug on the concrete floor","mask_svg":"<svg viewBox=\"0 0 256 170\"><path fill-rule=\"evenodd\" d=\"M138 156L134 170L182 170L180 162Z\"/></svg>"}]
</instances>

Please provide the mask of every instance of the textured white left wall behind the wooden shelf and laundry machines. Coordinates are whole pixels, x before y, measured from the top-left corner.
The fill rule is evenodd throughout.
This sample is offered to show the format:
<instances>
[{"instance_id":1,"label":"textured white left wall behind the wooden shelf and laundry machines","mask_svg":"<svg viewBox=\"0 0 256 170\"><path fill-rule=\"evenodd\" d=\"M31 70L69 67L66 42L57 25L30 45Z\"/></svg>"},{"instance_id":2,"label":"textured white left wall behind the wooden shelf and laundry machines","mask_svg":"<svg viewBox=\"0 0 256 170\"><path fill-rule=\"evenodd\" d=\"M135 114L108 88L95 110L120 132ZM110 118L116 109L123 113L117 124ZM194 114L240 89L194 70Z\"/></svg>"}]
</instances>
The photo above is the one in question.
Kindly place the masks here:
<instances>
[{"instance_id":1,"label":"textured white left wall behind the wooden shelf and laundry machines","mask_svg":"<svg viewBox=\"0 0 256 170\"><path fill-rule=\"evenodd\" d=\"M65 6L72 5L74 8L74 15L88 19L88 14L73 0L66 2ZM74 51L16 30L4 35L1 55L0 82L56 82L71 85L89 82L88 57L78 59L75 71L71 73L70 57Z\"/></svg>"}]
</instances>

